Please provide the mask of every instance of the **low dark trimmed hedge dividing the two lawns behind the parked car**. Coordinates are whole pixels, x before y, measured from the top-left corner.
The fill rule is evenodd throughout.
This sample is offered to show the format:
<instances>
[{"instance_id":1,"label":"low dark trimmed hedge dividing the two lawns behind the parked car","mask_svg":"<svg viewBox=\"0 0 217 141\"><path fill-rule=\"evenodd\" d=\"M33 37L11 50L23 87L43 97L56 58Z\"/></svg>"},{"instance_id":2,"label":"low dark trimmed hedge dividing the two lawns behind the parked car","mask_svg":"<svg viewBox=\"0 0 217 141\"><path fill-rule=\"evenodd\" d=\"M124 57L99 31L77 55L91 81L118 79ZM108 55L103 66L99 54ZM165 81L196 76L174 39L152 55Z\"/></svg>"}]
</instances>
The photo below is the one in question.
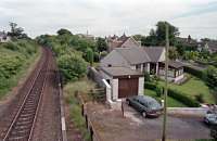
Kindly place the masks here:
<instances>
[{"instance_id":1,"label":"low dark trimmed hedge dividing the two lawns behind the parked car","mask_svg":"<svg viewBox=\"0 0 217 141\"><path fill-rule=\"evenodd\" d=\"M154 90L155 92L157 92L156 90L157 90L157 88L159 88L159 86L156 86L155 84L152 84L152 82L145 82L144 88L151 89L151 90ZM173 90L170 88L168 89L168 97L171 97L175 100L180 101L190 107L199 107L200 106L200 103L197 101L187 97L186 93L177 91L177 90Z\"/></svg>"}]
</instances>

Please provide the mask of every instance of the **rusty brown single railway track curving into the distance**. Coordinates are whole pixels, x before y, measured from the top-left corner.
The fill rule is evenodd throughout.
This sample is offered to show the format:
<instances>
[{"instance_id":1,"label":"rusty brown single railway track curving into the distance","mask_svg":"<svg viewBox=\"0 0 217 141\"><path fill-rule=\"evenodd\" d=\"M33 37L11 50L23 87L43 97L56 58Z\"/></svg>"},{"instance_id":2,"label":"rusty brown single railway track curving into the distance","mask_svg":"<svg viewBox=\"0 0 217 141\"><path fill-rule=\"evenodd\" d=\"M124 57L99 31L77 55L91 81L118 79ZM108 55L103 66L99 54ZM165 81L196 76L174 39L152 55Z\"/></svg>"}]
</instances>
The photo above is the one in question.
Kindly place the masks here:
<instances>
[{"instance_id":1,"label":"rusty brown single railway track curving into the distance","mask_svg":"<svg viewBox=\"0 0 217 141\"><path fill-rule=\"evenodd\" d=\"M34 79L30 89L18 107L18 112L13 118L3 141L29 141L33 137L34 125L36 123L39 105L41 102L48 69L50 66L51 52L46 49L46 60Z\"/></svg>"}]
</instances>

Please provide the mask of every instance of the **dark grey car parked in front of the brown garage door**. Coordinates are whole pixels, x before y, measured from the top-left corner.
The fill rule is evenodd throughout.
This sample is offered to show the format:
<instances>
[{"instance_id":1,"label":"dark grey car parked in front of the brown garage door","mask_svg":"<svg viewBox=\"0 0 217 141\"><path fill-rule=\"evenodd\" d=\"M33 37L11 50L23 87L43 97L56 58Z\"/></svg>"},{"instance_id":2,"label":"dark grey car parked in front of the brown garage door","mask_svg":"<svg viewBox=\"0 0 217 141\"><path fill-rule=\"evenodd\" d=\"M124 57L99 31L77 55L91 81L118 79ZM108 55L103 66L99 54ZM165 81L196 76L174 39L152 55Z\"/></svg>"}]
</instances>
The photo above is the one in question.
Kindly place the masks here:
<instances>
[{"instance_id":1,"label":"dark grey car parked in front of the brown garage door","mask_svg":"<svg viewBox=\"0 0 217 141\"><path fill-rule=\"evenodd\" d=\"M136 95L126 99L127 103L140 112L143 117L158 117L162 114L162 105L153 98L148 95Z\"/></svg>"}]
</instances>

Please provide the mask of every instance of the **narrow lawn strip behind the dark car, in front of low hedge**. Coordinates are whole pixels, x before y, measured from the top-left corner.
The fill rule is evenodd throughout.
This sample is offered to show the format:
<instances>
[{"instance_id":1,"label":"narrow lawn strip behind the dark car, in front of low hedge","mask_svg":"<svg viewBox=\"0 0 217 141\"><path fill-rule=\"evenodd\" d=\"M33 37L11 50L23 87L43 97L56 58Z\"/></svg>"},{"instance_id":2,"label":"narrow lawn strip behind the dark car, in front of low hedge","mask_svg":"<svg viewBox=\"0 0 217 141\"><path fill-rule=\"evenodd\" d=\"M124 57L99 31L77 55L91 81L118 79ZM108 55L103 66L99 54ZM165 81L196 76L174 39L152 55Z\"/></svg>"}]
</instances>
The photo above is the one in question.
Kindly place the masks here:
<instances>
[{"instance_id":1,"label":"narrow lawn strip behind the dark car, in front of low hedge","mask_svg":"<svg viewBox=\"0 0 217 141\"><path fill-rule=\"evenodd\" d=\"M161 101L162 99L156 95L156 92L150 89L144 89L144 93L146 95L150 95L154 99L156 99L157 101ZM183 103L168 97L167 98L167 105L168 107L187 107L187 105L184 105Z\"/></svg>"}]
</instances>

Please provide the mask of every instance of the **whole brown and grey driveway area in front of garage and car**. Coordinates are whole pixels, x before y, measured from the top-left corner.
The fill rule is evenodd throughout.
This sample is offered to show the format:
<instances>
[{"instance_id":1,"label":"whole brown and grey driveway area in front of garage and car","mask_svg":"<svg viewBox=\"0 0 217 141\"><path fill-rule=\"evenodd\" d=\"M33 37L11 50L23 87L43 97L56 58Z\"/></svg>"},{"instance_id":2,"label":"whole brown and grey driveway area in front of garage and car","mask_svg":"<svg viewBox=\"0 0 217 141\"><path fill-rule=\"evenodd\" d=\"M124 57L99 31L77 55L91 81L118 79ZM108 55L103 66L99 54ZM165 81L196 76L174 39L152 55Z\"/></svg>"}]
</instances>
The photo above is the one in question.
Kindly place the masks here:
<instances>
[{"instance_id":1,"label":"whole brown and grey driveway area in front of garage and car","mask_svg":"<svg viewBox=\"0 0 217 141\"><path fill-rule=\"evenodd\" d=\"M92 108L89 118L103 141L153 141L162 137L163 116L143 118L133 108L125 105L125 117L120 111ZM209 128L201 117L168 116L167 138L177 140L210 139Z\"/></svg>"}]
</instances>

